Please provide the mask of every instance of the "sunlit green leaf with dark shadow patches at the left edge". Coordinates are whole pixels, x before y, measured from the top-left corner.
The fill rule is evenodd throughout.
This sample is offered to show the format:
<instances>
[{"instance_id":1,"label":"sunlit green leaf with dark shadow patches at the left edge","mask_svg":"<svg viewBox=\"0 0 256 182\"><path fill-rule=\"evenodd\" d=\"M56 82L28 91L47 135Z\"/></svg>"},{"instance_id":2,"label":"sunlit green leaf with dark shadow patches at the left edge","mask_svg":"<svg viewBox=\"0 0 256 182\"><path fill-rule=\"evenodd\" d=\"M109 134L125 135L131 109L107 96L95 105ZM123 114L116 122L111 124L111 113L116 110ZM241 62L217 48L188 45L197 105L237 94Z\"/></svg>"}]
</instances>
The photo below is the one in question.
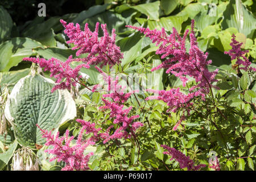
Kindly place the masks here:
<instances>
[{"instance_id":1,"label":"sunlit green leaf with dark shadow patches at the left edge","mask_svg":"<svg viewBox=\"0 0 256 182\"><path fill-rule=\"evenodd\" d=\"M33 48L42 47L42 44L29 38L13 38L0 44L0 71L9 71L18 65L23 57L35 54Z\"/></svg>"}]
</instances>

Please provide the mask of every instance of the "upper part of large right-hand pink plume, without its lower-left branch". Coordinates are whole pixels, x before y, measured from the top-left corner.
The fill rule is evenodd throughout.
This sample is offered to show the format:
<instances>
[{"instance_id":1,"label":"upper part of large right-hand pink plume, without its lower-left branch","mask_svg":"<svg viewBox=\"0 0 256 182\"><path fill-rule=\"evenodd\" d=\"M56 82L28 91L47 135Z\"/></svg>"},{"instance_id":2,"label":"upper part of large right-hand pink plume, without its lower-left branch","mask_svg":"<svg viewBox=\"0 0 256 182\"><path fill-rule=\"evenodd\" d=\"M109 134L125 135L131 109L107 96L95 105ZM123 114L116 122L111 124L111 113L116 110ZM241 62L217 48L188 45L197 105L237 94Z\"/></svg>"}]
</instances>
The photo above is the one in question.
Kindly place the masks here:
<instances>
[{"instance_id":1,"label":"upper part of large right-hand pink plume, without its lower-left branch","mask_svg":"<svg viewBox=\"0 0 256 182\"><path fill-rule=\"evenodd\" d=\"M209 92L209 88L212 86L212 82L217 81L214 79L218 69L214 72L209 72L207 65L212 63L212 60L207 60L208 53L201 51L197 45L194 20L191 21L191 33L189 34L191 47L187 53L185 48L185 38L188 35L189 30L186 30L183 37L181 37L175 28L172 29L172 34L167 35L164 28L161 31L149 30L149 28L127 26L135 30L141 31L148 38L159 46L156 54L162 55L161 59L165 59L162 64L151 71L164 68L167 69L166 73L172 73L176 77L179 77L183 81L183 86L186 85L188 78L195 78L197 85L192 90L198 88L197 95L201 95L203 98L206 93Z\"/></svg>"}]
</instances>

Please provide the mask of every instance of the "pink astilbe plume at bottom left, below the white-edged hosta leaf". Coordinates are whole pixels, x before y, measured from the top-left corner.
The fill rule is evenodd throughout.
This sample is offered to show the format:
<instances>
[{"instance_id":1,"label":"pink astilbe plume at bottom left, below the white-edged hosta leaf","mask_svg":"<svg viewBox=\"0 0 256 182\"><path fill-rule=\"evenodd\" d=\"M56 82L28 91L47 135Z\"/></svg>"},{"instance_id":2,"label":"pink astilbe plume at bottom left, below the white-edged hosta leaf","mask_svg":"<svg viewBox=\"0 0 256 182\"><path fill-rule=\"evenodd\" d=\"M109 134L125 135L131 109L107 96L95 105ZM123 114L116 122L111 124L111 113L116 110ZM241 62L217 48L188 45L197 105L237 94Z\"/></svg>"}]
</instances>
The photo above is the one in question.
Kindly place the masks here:
<instances>
[{"instance_id":1,"label":"pink astilbe plume at bottom left, below the white-edged hosta leaf","mask_svg":"<svg viewBox=\"0 0 256 182\"><path fill-rule=\"evenodd\" d=\"M36 126L38 125L36 124ZM93 145L95 143L92 140L82 139L85 128L86 126L82 127L76 140L76 144L71 146L71 141L74 139L74 137L69 137L68 130L66 130L63 137L59 138L59 132L57 132L57 134L54 136L51 131L43 130L39 127L39 129L42 131L43 138L46 138L45 145L53 146L52 149L46 150L46 152L48 152L49 154L55 155L53 158L49 159L49 161L51 162L57 159L57 162L65 162L65 167L61 169L62 171L88 170L89 158L93 155L93 153L91 152L85 155L84 150L89 145Z\"/></svg>"}]
</instances>

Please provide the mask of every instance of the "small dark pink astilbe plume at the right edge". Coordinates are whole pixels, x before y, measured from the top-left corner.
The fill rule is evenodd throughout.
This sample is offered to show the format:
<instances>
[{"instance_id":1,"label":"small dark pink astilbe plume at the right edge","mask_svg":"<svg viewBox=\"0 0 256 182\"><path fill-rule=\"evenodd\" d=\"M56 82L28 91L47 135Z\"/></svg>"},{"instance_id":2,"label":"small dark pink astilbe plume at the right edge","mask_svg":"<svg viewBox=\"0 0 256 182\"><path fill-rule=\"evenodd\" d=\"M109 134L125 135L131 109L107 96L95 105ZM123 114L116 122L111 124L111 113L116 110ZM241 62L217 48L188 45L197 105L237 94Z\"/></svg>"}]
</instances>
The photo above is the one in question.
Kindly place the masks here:
<instances>
[{"instance_id":1,"label":"small dark pink astilbe plume at the right edge","mask_svg":"<svg viewBox=\"0 0 256 182\"><path fill-rule=\"evenodd\" d=\"M256 71L256 68L250 67L251 62L247 57L245 56L248 50L242 51L241 46L243 43L239 43L236 40L236 35L232 34L232 42L230 43L230 46L232 46L232 49L229 51L225 51L224 53L229 55L231 59L237 59L236 64L241 65L243 67L240 67L240 69L243 69L245 71Z\"/></svg>"}]
</instances>

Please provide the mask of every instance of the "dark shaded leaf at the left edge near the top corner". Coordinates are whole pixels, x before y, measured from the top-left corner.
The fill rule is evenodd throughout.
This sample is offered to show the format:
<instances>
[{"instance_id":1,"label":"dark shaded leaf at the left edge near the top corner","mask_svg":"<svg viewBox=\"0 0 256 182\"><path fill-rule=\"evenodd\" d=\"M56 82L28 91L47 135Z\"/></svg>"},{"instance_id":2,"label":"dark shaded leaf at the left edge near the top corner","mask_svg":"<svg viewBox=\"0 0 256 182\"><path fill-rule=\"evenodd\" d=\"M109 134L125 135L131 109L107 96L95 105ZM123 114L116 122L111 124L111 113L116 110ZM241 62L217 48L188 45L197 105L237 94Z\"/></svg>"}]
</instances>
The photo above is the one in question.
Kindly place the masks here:
<instances>
[{"instance_id":1,"label":"dark shaded leaf at the left edge near the top corner","mask_svg":"<svg viewBox=\"0 0 256 182\"><path fill-rule=\"evenodd\" d=\"M11 35L11 28L13 28L13 20L9 13L0 6L0 43L9 38Z\"/></svg>"}]
</instances>

